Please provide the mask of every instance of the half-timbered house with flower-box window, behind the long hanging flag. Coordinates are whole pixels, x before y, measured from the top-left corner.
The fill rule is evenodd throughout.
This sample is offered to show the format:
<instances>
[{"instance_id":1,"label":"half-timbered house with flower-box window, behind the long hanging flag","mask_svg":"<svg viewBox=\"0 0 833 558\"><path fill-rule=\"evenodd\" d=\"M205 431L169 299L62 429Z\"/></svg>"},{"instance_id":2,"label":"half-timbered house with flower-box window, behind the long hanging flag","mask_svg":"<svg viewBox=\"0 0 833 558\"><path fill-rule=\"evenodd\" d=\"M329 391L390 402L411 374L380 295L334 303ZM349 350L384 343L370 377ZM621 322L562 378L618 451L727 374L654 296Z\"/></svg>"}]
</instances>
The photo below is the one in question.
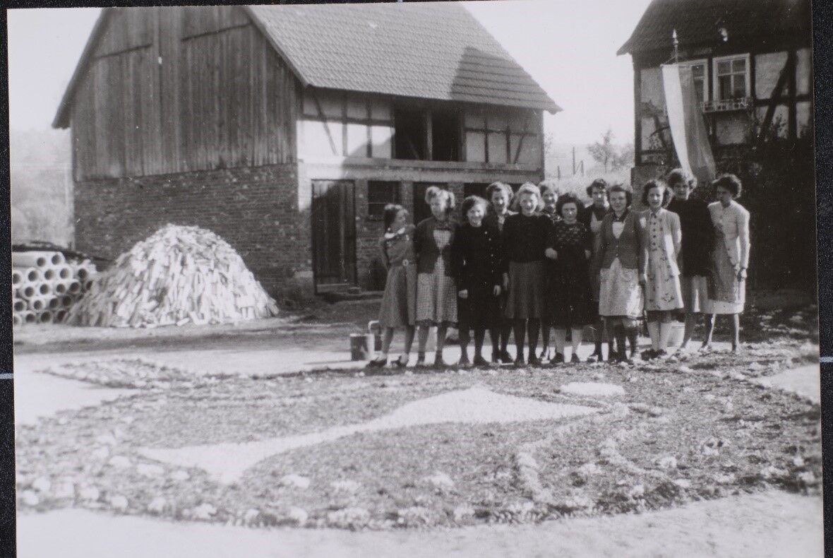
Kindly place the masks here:
<instances>
[{"instance_id":1,"label":"half-timbered house with flower-box window, behind the long hanging flag","mask_svg":"<svg viewBox=\"0 0 833 558\"><path fill-rule=\"evenodd\" d=\"M633 59L635 186L673 163L663 63L691 66L717 159L812 133L809 0L653 0L618 53Z\"/></svg>"}]
</instances>

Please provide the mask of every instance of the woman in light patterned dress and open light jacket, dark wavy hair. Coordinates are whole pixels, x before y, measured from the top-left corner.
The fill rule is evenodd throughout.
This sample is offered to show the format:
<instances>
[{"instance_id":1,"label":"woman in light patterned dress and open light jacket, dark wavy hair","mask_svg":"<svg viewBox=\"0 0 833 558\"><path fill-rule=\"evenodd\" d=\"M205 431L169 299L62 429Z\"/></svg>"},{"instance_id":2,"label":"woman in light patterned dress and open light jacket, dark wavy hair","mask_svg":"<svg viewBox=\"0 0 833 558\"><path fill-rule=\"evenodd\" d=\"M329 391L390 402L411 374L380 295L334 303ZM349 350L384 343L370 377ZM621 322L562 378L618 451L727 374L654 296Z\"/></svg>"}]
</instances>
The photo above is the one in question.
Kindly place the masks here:
<instances>
[{"instance_id":1,"label":"woman in light patterned dress and open light jacket, dark wavy hair","mask_svg":"<svg viewBox=\"0 0 833 558\"><path fill-rule=\"evenodd\" d=\"M645 309L651 349L644 359L667 356L673 314L683 307L680 268L677 257L682 245L680 216L668 211L671 189L661 180L650 180L642 189L642 204L648 244L648 275L645 285Z\"/></svg>"}]
</instances>

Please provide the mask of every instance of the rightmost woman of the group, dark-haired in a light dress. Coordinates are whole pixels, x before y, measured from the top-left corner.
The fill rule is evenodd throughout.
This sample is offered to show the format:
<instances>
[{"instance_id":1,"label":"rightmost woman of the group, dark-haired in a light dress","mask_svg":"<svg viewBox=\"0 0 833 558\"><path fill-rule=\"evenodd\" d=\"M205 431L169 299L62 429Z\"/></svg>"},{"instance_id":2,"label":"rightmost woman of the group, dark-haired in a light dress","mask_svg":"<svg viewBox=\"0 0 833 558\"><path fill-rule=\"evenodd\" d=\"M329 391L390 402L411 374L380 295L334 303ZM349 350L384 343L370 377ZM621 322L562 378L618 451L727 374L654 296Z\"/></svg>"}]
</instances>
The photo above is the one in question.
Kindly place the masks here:
<instances>
[{"instance_id":1,"label":"rightmost woman of the group, dark-haired in a light dress","mask_svg":"<svg viewBox=\"0 0 833 558\"><path fill-rule=\"evenodd\" d=\"M731 315L731 349L741 344L741 312L746 302L746 268L749 266L751 241L749 212L735 199L741 195L741 180L734 174L723 174L712 185L717 201L709 204L711 222L715 227L715 242L711 249L706 313L706 340L703 347L711 348L711 334L717 314Z\"/></svg>"}]
</instances>

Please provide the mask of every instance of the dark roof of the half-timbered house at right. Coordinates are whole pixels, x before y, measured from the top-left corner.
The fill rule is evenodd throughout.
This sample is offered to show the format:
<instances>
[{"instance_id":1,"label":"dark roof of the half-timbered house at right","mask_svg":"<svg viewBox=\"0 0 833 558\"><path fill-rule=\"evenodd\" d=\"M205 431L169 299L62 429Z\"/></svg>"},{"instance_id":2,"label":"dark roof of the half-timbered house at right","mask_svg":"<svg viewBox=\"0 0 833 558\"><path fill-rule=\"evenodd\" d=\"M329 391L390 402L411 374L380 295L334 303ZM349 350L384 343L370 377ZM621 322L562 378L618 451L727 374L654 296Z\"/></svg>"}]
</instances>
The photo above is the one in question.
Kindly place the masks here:
<instances>
[{"instance_id":1,"label":"dark roof of the half-timbered house at right","mask_svg":"<svg viewBox=\"0 0 833 558\"><path fill-rule=\"evenodd\" d=\"M720 43L721 28L736 41L806 32L810 26L809 0L653 0L618 54L671 53L674 29L684 48Z\"/></svg>"}]
</instances>

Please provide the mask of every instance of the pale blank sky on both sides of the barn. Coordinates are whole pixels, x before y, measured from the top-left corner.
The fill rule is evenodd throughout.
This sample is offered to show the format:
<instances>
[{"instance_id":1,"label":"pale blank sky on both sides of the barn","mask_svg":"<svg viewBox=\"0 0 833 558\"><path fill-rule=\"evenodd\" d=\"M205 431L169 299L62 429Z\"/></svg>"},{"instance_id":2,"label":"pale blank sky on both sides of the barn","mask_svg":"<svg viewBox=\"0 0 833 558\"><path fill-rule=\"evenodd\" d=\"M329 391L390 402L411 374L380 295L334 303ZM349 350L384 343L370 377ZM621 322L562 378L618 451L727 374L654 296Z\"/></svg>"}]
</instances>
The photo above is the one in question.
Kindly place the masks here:
<instances>
[{"instance_id":1,"label":"pale blank sky on both sides of the barn","mask_svg":"<svg viewBox=\"0 0 833 558\"><path fill-rule=\"evenodd\" d=\"M563 108L547 115L556 143L590 143L611 128L633 138L631 57L616 56L650 0L496 0L464 5ZM49 129L100 8L7 12L9 125Z\"/></svg>"}]
</instances>

